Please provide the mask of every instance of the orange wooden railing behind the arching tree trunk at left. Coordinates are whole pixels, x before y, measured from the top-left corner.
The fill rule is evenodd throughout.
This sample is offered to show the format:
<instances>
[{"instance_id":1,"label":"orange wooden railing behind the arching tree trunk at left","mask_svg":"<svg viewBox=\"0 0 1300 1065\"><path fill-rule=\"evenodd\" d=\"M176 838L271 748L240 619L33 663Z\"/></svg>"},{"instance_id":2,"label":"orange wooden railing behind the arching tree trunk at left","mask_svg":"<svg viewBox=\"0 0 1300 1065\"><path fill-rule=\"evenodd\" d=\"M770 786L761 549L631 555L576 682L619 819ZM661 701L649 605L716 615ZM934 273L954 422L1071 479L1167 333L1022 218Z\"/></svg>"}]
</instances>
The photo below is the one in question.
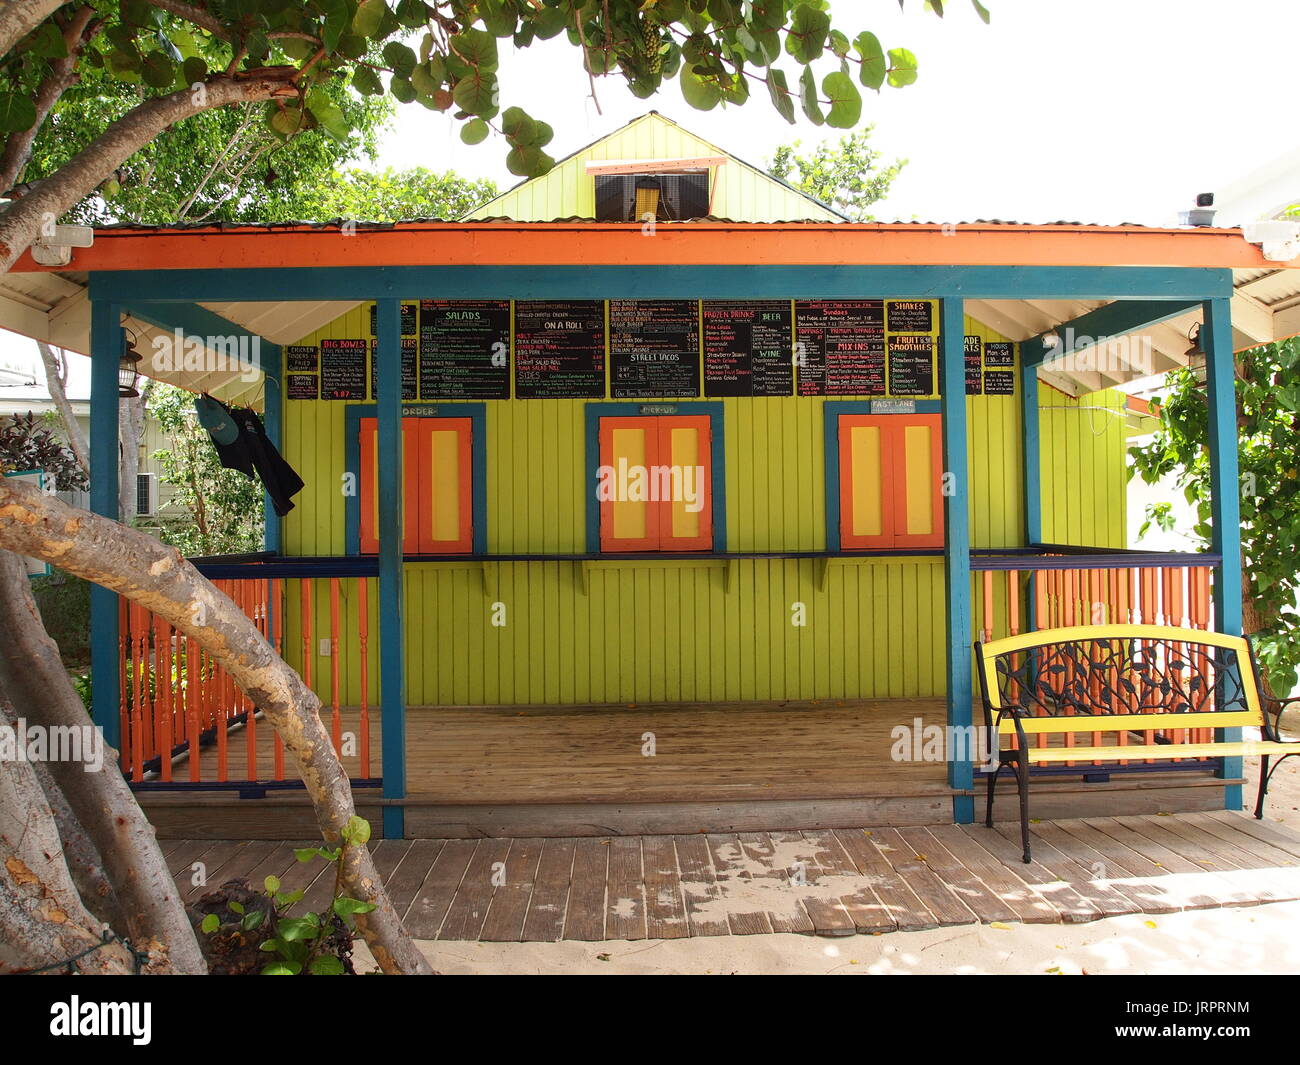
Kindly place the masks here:
<instances>
[{"instance_id":1,"label":"orange wooden railing behind the arching tree trunk at left","mask_svg":"<svg viewBox=\"0 0 1300 1065\"><path fill-rule=\"evenodd\" d=\"M320 651L328 649L328 687L317 690L329 706L329 731L335 752L354 779L374 779L370 761L372 671L369 655L368 577L292 580L214 580L250 618L278 654L286 654L285 635L295 628L300 649L291 651L294 666L308 687ZM313 644L316 610L313 585L328 593L328 641ZM292 611L286 615L286 611ZM286 770L285 746L278 733L266 744L270 726L260 720L252 701L233 677L199 646L144 607L120 599L121 648L121 762L133 783L240 784L294 779ZM342 658L356 648L355 681L344 676ZM351 683L351 688L348 687ZM347 692L358 693L354 730L344 731ZM355 743L354 743L355 740ZM198 752L198 757L195 756Z\"/></svg>"}]
</instances>

